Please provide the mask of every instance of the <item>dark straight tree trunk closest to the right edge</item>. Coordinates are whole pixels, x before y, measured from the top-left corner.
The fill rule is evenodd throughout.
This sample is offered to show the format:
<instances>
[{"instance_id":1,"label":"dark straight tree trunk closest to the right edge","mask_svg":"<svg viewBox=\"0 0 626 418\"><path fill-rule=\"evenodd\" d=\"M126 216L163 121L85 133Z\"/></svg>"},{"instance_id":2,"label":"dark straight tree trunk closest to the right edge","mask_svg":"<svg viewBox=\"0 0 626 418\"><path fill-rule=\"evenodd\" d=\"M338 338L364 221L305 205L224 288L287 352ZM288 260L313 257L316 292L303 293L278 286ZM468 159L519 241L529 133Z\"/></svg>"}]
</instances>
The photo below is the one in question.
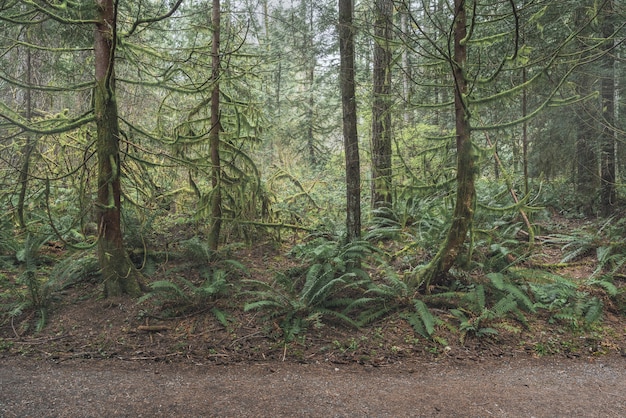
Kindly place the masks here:
<instances>
[{"instance_id":1,"label":"dark straight tree trunk closest to the right edge","mask_svg":"<svg viewBox=\"0 0 626 418\"><path fill-rule=\"evenodd\" d=\"M602 14L602 37L605 39L605 56L602 59L602 132L600 134L600 211L603 216L613 214L616 201L615 191L615 57L613 50L614 10L613 1L605 4Z\"/></svg>"}]
</instances>

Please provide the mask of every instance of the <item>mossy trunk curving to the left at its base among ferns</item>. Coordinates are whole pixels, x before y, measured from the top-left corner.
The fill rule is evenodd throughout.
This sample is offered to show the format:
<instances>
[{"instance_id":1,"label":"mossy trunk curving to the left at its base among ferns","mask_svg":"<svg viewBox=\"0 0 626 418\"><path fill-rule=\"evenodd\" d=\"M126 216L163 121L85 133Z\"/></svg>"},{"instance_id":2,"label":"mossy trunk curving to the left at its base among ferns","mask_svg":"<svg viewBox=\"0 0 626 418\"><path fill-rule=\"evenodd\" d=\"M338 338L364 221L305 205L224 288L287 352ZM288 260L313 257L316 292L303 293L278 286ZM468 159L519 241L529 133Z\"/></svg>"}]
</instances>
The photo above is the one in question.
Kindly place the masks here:
<instances>
[{"instance_id":1,"label":"mossy trunk curving to the left at its base among ferns","mask_svg":"<svg viewBox=\"0 0 626 418\"><path fill-rule=\"evenodd\" d=\"M454 217L448 235L437 255L419 276L426 290L444 281L467 239L474 218L476 200L476 156L471 142L470 112L466 101L467 79L463 71L467 57L467 16L465 0L455 0L454 58L454 111L456 119L457 190Z\"/></svg>"}]
</instances>

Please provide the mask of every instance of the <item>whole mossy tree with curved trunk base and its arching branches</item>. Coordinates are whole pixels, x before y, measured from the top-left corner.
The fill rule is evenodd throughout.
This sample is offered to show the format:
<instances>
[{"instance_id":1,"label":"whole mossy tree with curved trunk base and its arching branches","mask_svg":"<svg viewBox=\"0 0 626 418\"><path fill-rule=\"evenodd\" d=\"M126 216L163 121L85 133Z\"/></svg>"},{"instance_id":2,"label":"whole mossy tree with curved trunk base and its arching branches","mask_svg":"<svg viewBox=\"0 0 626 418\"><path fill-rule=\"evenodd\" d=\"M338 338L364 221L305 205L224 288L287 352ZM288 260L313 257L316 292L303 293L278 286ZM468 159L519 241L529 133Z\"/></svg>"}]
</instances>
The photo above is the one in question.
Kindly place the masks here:
<instances>
[{"instance_id":1,"label":"whole mossy tree with curved trunk base and its arching branches","mask_svg":"<svg viewBox=\"0 0 626 418\"><path fill-rule=\"evenodd\" d=\"M415 276L415 283L428 290L431 285L444 285L453 266L463 266L471 259L473 242L466 244L478 201L475 184L479 174L478 156L492 153L496 146L499 152L503 149L498 142L490 141L488 133L513 137L512 128L524 125L549 107L563 109L583 100L571 95L568 81L581 65L580 61L571 59L572 54L575 56L574 39L591 21L588 17L582 26L563 30L561 21L555 17L569 21L571 15L563 16L562 8L547 1L516 4L455 0L451 9L452 19L445 7L438 7L435 13L424 6L409 15L411 27L419 35L410 38L418 46L407 47L419 52L422 57L419 64L426 68L443 71L446 65L454 91L454 100L449 104L446 100L439 102L433 99L439 96L430 91L444 91L448 87L445 78L438 74L435 80L420 81L423 86L420 93L426 98L422 99L426 101L425 112L453 106L455 124L456 191L449 228L434 258ZM536 33L531 31L533 26L538 29ZM520 116L519 103L524 102L524 96L531 100L522 103ZM481 151L477 139L472 137L481 132L487 137L488 150ZM452 136L447 135L443 125L441 141ZM514 200L513 207L523 217L525 199L518 199L513 188L507 187ZM532 237L532 225L524 223Z\"/></svg>"}]
</instances>

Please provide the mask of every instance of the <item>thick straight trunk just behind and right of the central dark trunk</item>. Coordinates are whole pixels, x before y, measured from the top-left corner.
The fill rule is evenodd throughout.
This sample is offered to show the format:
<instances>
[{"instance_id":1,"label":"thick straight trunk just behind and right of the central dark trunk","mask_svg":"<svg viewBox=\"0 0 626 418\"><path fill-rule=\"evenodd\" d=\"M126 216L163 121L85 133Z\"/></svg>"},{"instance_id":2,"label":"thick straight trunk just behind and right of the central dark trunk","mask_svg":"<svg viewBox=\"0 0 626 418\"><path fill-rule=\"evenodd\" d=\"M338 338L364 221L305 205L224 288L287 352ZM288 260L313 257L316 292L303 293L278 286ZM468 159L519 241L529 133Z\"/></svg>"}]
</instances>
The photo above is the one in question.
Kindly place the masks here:
<instances>
[{"instance_id":1,"label":"thick straight trunk just behind and right of the central dark trunk","mask_svg":"<svg viewBox=\"0 0 626 418\"><path fill-rule=\"evenodd\" d=\"M374 102L372 105L372 208L391 207L391 0L374 4Z\"/></svg>"}]
</instances>

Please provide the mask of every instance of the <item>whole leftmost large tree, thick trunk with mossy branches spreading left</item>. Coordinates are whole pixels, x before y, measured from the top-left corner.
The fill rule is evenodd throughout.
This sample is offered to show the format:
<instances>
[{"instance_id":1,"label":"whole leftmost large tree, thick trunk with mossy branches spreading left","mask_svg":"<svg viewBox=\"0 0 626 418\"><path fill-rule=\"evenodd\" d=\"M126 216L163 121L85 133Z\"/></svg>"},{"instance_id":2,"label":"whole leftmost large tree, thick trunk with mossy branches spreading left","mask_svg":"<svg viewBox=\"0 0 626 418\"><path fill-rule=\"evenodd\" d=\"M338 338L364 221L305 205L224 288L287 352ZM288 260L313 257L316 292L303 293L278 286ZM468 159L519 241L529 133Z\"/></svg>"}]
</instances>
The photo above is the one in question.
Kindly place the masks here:
<instances>
[{"instance_id":1,"label":"whole leftmost large tree, thick trunk with mossy branches spreading left","mask_svg":"<svg viewBox=\"0 0 626 418\"><path fill-rule=\"evenodd\" d=\"M13 129L27 132L27 135L39 135L45 139L47 143L42 145L45 152L61 153L58 155L60 164L45 164L42 172L37 175L40 179L45 179L43 180L45 202L43 205L40 204L40 207L43 206L48 212L51 229L63 240L67 238L68 231L74 229L76 220L69 221L63 225L62 229L54 225L56 220L53 219L49 207L50 190L53 188L51 183L60 183L57 188L67 190L68 183L75 181L74 174L79 172L81 166L87 166L87 161L92 155L88 147L93 145L90 137L94 127L92 122L95 122L96 140L94 142L98 161L94 212L99 230L98 258L106 296L122 294L137 296L141 292L140 274L125 250L121 221L122 178L125 167L121 159L120 142L128 139L128 133L123 133L120 129L118 114L116 58L119 53L118 47L123 44L120 39L129 36L142 25L149 25L171 16L180 3L181 0L167 13L156 18L132 21L129 26L130 30L123 36L118 34L117 26L119 2L113 0L97 0L88 5L71 3L63 6L51 3L13 2L5 5L6 8L1 10L0 19L9 22L18 30L25 28L30 31L30 27L37 27L45 31L44 33L56 33L52 39L46 40L52 43L52 46L43 45L41 39L38 39L39 43L32 40L27 40L27 42L17 40L14 41L14 45L7 47L11 50L19 44L28 50L37 51L38 54L60 57L58 63L54 58L50 59L51 62L56 63L56 66L52 68L56 71L56 77L47 75L42 79L30 77L27 74L25 81L18 81L17 77L3 74L4 79L8 80L16 91L24 90L27 96L32 91L46 94L49 99L44 106L49 110L39 112L36 118L29 120L30 114L24 117L19 112L12 111L4 96L0 115L6 121L4 126L12 126ZM21 17L16 19L19 16L27 19ZM93 30L86 31L86 28L93 28ZM88 33L91 35L93 48L86 44ZM89 59L89 54L92 54L92 60L95 63L94 73L85 71L84 61ZM40 63L44 62L43 59L40 60ZM42 68L38 70L42 71ZM91 101L88 100L90 97L86 92L92 93ZM55 106L48 103L54 103ZM67 108L62 107L61 111L55 114L55 110L59 111L58 108L55 109L56 106L67 106ZM73 113L79 116L72 117ZM66 146L68 142L66 136L67 139L71 138L73 141L69 147ZM29 142L27 141L26 144L29 145ZM86 147L82 153L79 152L79 155L84 155L82 159L76 158L75 155L63 154L67 148L76 149L81 146ZM78 167L74 166L76 161L78 161ZM22 167L24 167L23 164ZM61 172L63 169L67 172ZM59 172L54 172L55 170ZM126 173L128 172L127 170ZM22 168L21 173L28 174L28 170ZM85 181L88 182L88 180ZM21 181L21 184L25 185L26 182ZM83 187L86 185L81 185L80 189L83 190ZM82 220L85 213L76 213L82 212L77 208L82 209L82 202L76 203L67 211L70 212L68 215L76 215Z\"/></svg>"}]
</instances>

